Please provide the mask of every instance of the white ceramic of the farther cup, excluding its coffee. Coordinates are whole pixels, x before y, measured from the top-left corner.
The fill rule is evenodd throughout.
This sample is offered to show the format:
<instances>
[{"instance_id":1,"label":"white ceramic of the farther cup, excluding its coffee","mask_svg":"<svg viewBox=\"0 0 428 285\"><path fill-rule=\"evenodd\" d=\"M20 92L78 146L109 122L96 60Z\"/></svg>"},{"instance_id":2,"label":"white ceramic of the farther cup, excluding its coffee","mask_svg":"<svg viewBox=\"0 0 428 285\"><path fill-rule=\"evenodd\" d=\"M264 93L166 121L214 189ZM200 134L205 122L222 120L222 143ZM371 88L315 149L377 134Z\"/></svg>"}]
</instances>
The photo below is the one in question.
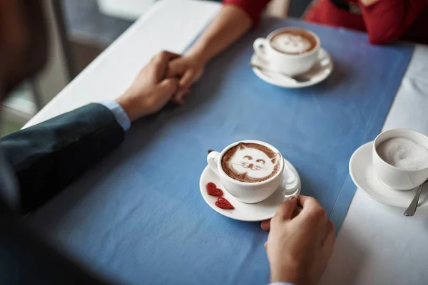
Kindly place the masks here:
<instances>
[{"instance_id":1,"label":"white ceramic of the farther cup, excluding its coffee","mask_svg":"<svg viewBox=\"0 0 428 285\"><path fill-rule=\"evenodd\" d=\"M273 36L277 35L277 33L290 30L303 30L306 33L310 33L316 39L317 45L312 50L302 54L282 53L277 51L275 48L272 48L270 40ZM315 33L312 33L312 31L307 31L302 28L280 28L272 31L267 38L257 38L253 43L255 53L269 64L269 68L282 73L287 73L290 76L295 76L309 71L317 62L320 46L320 38L318 38Z\"/></svg>"}]
</instances>

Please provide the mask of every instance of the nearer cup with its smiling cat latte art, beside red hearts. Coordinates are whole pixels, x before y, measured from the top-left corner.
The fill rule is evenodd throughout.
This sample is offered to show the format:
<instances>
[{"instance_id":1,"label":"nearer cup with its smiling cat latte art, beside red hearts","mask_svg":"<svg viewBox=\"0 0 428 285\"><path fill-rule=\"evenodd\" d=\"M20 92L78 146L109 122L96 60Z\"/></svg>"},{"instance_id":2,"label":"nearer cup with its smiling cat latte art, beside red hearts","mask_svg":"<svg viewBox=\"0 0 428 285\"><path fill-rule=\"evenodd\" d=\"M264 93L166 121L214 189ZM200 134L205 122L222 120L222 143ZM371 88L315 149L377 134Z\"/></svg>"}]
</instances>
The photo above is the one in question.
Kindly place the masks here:
<instances>
[{"instance_id":1,"label":"nearer cup with its smiling cat latte art, beside red hearts","mask_svg":"<svg viewBox=\"0 0 428 285\"><path fill-rule=\"evenodd\" d=\"M244 203L267 199L282 181L284 159L266 142L234 142L222 152L210 152L207 162L225 190Z\"/></svg>"}]
</instances>

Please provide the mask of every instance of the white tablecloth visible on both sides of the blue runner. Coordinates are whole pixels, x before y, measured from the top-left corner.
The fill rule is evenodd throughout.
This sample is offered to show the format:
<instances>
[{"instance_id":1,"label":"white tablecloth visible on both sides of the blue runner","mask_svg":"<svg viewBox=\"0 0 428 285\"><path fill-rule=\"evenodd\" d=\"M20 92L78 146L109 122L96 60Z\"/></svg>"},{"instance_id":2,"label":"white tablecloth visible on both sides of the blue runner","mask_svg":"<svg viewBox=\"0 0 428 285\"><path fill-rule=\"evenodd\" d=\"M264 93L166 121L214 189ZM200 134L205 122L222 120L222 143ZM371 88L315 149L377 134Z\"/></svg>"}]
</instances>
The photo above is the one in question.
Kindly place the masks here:
<instances>
[{"instance_id":1,"label":"white tablecloth visible on both sides of the blue runner","mask_svg":"<svg viewBox=\"0 0 428 285\"><path fill-rule=\"evenodd\" d=\"M118 97L159 50L182 53L219 7L203 1L158 2L26 126ZM427 107L428 47L419 45L384 130L412 128L428 134ZM321 284L428 284L428 209L418 209L414 217L404 217L403 211L357 190Z\"/></svg>"}]
</instances>

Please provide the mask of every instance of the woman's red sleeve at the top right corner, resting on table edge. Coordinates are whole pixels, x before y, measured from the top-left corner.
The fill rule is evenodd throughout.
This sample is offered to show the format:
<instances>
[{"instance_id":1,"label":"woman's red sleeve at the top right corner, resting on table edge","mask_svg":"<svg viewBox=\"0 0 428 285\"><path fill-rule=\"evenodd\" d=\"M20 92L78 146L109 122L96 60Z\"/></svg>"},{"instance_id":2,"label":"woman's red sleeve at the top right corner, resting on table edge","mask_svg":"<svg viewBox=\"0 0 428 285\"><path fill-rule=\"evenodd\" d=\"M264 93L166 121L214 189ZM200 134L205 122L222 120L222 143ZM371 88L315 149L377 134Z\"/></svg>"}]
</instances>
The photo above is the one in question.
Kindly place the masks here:
<instances>
[{"instance_id":1,"label":"woman's red sleeve at the top right corner, resting on table edge","mask_svg":"<svg viewBox=\"0 0 428 285\"><path fill-rule=\"evenodd\" d=\"M360 4L370 43L392 43L407 31L427 0L379 0L370 6Z\"/></svg>"}]
</instances>

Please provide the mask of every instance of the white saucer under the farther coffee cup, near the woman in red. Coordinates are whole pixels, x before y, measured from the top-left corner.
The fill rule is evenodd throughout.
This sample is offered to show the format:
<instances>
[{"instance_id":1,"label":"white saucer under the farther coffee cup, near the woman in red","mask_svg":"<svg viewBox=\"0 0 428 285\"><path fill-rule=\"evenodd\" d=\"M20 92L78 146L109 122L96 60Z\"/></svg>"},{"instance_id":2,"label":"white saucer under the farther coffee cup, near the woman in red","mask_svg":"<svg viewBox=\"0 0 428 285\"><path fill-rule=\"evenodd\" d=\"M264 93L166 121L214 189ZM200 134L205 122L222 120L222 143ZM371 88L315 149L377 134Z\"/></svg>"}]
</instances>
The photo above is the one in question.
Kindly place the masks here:
<instances>
[{"instance_id":1,"label":"white saucer under the farther coffee cup, near the woman in red","mask_svg":"<svg viewBox=\"0 0 428 285\"><path fill-rule=\"evenodd\" d=\"M305 76L310 77L310 81L306 82L295 82L292 79L287 78L287 76L282 76L280 73L267 71L265 69L261 70L254 67L253 71L260 79L275 86L285 88L302 88L312 86L325 80L325 78L330 76L333 71L333 61L330 54L327 53L324 48L320 48L318 55L318 62L310 69L310 71L305 73ZM260 58L256 53L251 57L251 63L269 69L269 63Z\"/></svg>"}]
</instances>

